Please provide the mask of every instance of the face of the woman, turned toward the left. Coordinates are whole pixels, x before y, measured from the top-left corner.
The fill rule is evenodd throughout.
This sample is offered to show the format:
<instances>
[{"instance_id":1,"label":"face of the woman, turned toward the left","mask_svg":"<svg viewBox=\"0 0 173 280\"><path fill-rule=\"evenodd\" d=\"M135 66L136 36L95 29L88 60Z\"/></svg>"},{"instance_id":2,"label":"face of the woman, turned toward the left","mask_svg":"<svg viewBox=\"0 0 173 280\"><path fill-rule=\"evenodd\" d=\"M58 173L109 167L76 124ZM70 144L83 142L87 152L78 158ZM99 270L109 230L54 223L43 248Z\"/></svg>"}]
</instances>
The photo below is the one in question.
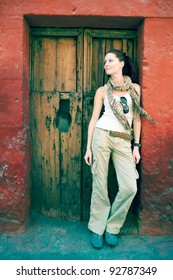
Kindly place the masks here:
<instances>
[{"instance_id":1,"label":"face of the woman, turned toward the left","mask_svg":"<svg viewBox=\"0 0 173 280\"><path fill-rule=\"evenodd\" d=\"M104 61L104 69L107 75L115 75L122 73L124 61L119 61L119 58L114 53L107 53Z\"/></svg>"}]
</instances>

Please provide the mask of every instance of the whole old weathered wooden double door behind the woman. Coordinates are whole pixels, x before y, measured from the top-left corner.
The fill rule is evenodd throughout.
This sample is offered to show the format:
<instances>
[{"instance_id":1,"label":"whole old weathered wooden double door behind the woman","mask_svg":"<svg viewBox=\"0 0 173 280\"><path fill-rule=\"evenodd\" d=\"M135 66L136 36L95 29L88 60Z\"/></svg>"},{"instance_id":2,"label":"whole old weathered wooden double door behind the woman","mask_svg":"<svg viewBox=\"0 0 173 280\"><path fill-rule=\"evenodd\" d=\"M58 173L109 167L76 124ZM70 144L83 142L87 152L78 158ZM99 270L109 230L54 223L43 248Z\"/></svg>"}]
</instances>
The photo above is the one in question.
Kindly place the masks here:
<instances>
[{"instance_id":1,"label":"whole old weathered wooden double door behind the woman","mask_svg":"<svg viewBox=\"0 0 173 280\"><path fill-rule=\"evenodd\" d=\"M31 208L35 211L88 219L91 173L83 156L94 93L107 79L103 61L110 48L124 50L136 61L136 32L31 31Z\"/></svg>"}]
</instances>

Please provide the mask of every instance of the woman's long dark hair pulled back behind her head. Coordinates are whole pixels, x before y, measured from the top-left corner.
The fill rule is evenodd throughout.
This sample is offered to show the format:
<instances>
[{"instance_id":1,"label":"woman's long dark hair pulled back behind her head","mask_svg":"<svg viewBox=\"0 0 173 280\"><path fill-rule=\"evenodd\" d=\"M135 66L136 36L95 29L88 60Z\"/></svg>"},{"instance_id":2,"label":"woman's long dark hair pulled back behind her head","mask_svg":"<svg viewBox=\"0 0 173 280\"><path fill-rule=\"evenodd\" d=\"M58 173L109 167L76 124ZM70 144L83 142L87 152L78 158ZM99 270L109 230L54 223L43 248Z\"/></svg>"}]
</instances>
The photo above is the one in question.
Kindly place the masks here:
<instances>
[{"instance_id":1,"label":"woman's long dark hair pulled back behind her head","mask_svg":"<svg viewBox=\"0 0 173 280\"><path fill-rule=\"evenodd\" d=\"M125 52L117 49L111 49L106 54L108 53L114 53L120 61L124 61L123 75L129 76L132 79L132 82L137 82L137 75L131 58L127 56Z\"/></svg>"}]
</instances>

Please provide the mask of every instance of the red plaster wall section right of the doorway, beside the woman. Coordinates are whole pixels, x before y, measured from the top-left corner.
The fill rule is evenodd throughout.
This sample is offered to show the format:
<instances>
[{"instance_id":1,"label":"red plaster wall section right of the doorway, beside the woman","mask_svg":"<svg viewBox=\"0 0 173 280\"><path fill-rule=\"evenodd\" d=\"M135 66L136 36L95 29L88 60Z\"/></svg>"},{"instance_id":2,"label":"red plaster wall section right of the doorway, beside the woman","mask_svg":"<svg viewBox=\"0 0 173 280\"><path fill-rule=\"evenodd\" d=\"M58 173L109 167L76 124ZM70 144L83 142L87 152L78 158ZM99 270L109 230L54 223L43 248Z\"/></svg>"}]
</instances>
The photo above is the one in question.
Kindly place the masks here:
<instances>
[{"instance_id":1,"label":"red plaster wall section right of the doorway, beside the woman","mask_svg":"<svg viewBox=\"0 0 173 280\"><path fill-rule=\"evenodd\" d=\"M173 233L173 19L146 19L142 100L158 121L143 121L141 234Z\"/></svg>"}]
</instances>

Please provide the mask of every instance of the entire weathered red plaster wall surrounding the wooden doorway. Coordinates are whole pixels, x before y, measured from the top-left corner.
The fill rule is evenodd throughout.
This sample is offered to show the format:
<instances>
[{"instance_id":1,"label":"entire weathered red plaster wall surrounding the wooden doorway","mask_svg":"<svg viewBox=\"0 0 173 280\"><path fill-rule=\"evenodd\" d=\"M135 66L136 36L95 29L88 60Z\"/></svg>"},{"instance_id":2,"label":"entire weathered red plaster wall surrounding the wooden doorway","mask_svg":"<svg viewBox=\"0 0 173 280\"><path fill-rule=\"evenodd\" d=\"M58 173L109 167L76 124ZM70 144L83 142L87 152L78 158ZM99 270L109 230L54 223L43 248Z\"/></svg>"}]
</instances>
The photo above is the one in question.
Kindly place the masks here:
<instances>
[{"instance_id":1,"label":"entire weathered red plaster wall surrounding the wooden doorway","mask_svg":"<svg viewBox=\"0 0 173 280\"><path fill-rule=\"evenodd\" d=\"M139 28L142 100L158 125L143 121L140 233L173 233L172 0L0 0L0 231L24 230L29 214L29 26L24 15L147 17Z\"/></svg>"}]
</instances>

